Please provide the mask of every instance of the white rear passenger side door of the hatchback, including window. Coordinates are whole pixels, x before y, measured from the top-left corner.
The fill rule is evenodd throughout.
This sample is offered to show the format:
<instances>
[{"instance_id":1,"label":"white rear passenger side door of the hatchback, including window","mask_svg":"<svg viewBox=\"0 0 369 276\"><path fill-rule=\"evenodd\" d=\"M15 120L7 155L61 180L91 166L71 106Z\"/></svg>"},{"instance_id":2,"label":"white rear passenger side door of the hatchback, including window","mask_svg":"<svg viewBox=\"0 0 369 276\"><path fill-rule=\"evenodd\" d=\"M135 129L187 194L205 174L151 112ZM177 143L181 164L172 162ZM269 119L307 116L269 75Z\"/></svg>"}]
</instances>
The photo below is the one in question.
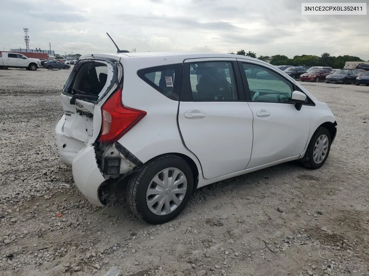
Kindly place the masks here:
<instances>
[{"instance_id":1,"label":"white rear passenger side door of the hatchback, including window","mask_svg":"<svg viewBox=\"0 0 369 276\"><path fill-rule=\"evenodd\" d=\"M184 61L178 124L204 178L245 169L252 149L252 112L236 59Z\"/></svg>"}]
</instances>

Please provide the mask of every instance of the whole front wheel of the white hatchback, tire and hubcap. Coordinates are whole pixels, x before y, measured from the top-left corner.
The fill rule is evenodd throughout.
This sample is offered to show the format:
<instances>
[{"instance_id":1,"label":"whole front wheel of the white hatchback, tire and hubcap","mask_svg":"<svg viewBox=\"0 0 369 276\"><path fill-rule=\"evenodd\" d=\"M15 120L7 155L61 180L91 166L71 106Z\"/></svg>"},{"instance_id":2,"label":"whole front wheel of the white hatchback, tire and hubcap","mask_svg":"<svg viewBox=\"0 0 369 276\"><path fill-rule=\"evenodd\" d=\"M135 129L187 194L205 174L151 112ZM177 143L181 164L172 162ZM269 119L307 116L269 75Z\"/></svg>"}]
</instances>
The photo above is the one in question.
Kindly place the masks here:
<instances>
[{"instance_id":1,"label":"whole front wheel of the white hatchback, tire and hubcap","mask_svg":"<svg viewBox=\"0 0 369 276\"><path fill-rule=\"evenodd\" d=\"M308 169L319 169L328 158L331 150L331 134L325 127L318 128L307 146L306 153L301 160Z\"/></svg>"}]
</instances>

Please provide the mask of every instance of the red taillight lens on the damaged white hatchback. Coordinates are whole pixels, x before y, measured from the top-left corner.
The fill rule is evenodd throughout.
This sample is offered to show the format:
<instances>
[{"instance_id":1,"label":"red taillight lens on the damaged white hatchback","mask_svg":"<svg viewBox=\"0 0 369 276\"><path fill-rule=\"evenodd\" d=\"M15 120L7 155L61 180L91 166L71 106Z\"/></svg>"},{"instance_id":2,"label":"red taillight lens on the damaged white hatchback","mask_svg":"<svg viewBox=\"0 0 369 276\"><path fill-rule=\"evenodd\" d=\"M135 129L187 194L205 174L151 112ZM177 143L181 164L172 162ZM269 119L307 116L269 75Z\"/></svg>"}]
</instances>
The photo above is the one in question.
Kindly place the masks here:
<instances>
[{"instance_id":1,"label":"red taillight lens on the damaged white hatchback","mask_svg":"<svg viewBox=\"0 0 369 276\"><path fill-rule=\"evenodd\" d=\"M146 112L126 107L122 103L122 89L118 89L102 106L100 142L112 143L120 139Z\"/></svg>"}]
</instances>

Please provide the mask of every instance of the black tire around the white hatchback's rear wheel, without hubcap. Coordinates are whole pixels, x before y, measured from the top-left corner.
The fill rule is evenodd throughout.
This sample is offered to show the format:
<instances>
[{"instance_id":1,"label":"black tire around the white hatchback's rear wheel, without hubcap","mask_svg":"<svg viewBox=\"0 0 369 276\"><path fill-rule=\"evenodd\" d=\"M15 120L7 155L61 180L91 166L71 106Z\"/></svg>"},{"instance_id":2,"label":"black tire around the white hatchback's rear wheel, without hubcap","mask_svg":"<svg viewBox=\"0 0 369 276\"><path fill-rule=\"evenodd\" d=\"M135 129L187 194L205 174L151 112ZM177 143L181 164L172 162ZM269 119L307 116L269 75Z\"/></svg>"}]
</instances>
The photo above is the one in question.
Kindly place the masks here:
<instances>
[{"instance_id":1,"label":"black tire around the white hatchback's rear wheel, without hubcap","mask_svg":"<svg viewBox=\"0 0 369 276\"><path fill-rule=\"evenodd\" d=\"M169 167L180 169L184 176L186 176L186 194L184 195L180 205L173 210L173 212L168 213L168 215L155 215L150 211L146 204L146 191L152 178L154 178L161 170ZM193 174L189 164L176 155L163 155L152 160L141 170L130 176L127 184L127 201L132 212L140 219L150 224L162 224L169 222L182 213L191 198L192 191Z\"/></svg>"}]
</instances>

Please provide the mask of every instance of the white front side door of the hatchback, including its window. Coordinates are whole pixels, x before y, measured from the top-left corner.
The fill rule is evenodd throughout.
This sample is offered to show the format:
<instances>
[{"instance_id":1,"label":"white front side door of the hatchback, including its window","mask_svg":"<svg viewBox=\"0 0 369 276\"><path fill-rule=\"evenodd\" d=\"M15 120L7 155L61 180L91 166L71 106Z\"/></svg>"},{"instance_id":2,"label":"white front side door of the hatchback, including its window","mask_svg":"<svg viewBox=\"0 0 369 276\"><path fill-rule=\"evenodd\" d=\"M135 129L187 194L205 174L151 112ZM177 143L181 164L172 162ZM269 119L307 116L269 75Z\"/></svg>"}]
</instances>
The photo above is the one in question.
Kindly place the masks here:
<instances>
[{"instance_id":1,"label":"white front side door of the hatchback, including its window","mask_svg":"<svg viewBox=\"0 0 369 276\"><path fill-rule=\"evenodd\" d=\"M254 114L254 142L247 168L300 155L309 137L311 107L296 109L291 103L294 85L277 70L252 61L242 63L242 67L242 72L268 72L268 78L246 77L249 106Z\"/></svg>"}]
</instances>

